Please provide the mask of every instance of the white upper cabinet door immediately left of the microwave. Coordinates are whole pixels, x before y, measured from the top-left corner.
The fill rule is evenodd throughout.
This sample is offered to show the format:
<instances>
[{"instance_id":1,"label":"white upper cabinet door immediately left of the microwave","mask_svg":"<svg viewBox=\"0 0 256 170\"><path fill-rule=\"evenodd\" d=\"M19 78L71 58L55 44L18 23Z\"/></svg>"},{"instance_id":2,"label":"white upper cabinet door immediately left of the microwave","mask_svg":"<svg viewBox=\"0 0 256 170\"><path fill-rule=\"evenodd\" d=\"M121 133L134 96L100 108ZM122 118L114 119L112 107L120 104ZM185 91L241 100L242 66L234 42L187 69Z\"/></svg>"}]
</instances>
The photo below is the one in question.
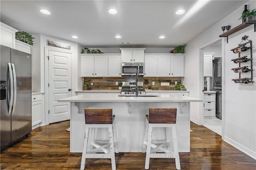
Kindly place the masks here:
<instances>
[{"instance_id":1,"label":"white upper cabinet door immediately left of the microwave","mask_svg":"<svg viewBox=\"0 0 256 170\"><path fill-rule=\"evenodd\" d=\"M108 76L121 77L121 56L120 55L108 56Z\"/></svg>"}]
</instances>

